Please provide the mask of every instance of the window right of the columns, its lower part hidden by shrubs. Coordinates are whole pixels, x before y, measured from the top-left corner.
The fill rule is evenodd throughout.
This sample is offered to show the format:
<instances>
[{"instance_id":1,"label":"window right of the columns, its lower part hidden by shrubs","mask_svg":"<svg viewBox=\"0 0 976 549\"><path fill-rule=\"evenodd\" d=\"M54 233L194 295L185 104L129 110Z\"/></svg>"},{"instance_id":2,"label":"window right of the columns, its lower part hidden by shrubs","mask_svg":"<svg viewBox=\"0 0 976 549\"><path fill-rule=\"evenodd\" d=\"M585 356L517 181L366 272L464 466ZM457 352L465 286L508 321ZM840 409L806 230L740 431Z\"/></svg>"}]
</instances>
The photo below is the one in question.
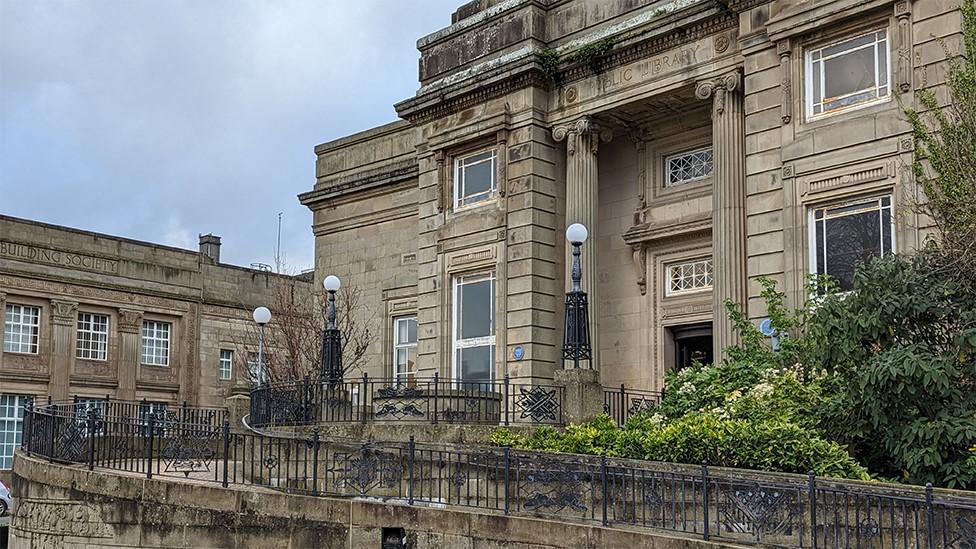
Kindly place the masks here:
<instances>
[{"instance_id":1,"label":"window right of the columns, its lower part hidden by shrubs","mask_svg":"<svg viewBox=\"0 0 976 549\"><path fill-rule=\"evenodd\" d=\"M895 251L890 196L817 208L811 217L810 270L832 276L842 290L854 288L858 265Z\"/></svg>"}]
</instances>

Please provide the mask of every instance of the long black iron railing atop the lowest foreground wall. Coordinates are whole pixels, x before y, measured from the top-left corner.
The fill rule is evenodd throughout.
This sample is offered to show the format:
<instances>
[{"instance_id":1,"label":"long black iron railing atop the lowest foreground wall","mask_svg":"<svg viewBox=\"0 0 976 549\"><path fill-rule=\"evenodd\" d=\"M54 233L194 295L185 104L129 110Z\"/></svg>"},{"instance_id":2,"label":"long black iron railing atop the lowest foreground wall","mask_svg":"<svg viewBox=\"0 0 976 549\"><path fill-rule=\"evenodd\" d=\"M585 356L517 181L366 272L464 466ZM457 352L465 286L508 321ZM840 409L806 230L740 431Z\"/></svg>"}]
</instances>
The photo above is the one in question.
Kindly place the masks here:
<instances>
[{"instance_id":1,"label":"long black iron railing atop the lowest foreground wall","mask_svg":"<svg viewBox=\"0 0 976 549\"><path fill-rule=\"evenodd\" d=\"M976 493L471 445L231 432L30 405L23 450L223 486L377 497L789 548L976 547ZM80 412L79 412L80 413Z\"/></svg>"}]
</instances>

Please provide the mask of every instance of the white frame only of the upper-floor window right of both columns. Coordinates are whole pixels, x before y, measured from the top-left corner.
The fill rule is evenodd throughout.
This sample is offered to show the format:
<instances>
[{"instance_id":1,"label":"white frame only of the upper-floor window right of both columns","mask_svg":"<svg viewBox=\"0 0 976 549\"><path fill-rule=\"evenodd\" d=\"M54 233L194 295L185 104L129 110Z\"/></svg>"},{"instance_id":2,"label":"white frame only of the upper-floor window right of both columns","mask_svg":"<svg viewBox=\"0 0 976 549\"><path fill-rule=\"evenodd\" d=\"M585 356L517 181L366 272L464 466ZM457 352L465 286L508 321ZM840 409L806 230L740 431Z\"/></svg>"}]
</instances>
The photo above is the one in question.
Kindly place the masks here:
<instances>
[{"instance_id":1,"label":"white frame only of the upper-floor window right of both columns","mask_svg":"<svg viewBox=\"0 0 976 549\"><path fill-rule=\"evenodd\" d=\"M837 54L834 54L834 55L829 56L829 57L823 57L821 55L821 57L817 60L817 62L819 63L818 64L818 67L819 67L818 70L820 71L820 98L821 98L820 104L823 105L824 103L827 102L827 101L824 101L824 95L825 95L826 84L827 84L826 83L826 79L824 78L824 70L823 70L823 68L824 68L824 61L826 61L828 59L833 59L834 57L837 57L837 56L840 56L840 55L845 55L845 54L851 53L852 51L857 51L857 50L865 49L865 48L874 48L874 66L875 66L875 70L876 70L875 75L874 75L874 82L875 82L874 89L875 89L875 92L877 94L877 97L874 97L872 99L866 99L864 101L860 101L860 102L854 103L852 105L846 105L846 106L836 107L836 108L833 108L831 110L824 110L824 111L819 112L819 113L814 113L814 106L815 106L814 89L813 89L813 75L814 75L814 62L815 62L814 59L813 59L814 54L816 54L817 52L822 52L823 50L825 50L827 48L831 48L831 47L836 46L838 44L841 44L843 42L847 42L848 40L856 40L858 38L862 38L862 37L868 36L870 34L875 34L876 35L878 33L884 33L884 37L879 39L876 36L875 37L875 40L873 42L869 43L869 44L865 44L863 46L858 46L858 47L856 47L854 49L845 50L844 52L837 53ZM876 29L871 30L871 31L868 31L868 32L861 32L861 33L857 33L857 34L848 34L848 35L845 35L844 37L839 38L837 40L834 40L834 41L832 41L830 43L817 46L816 48L808 48L805 51L805 53L804 53L804 62L803 62L803 82L804 82L804 89L806 91L806 101L805 101L806 107L805 107L805 111L806 111L807 120L817 120L817 119L820 119L820 118L828 117L828 116L835 115L835 114L842 113L842 112L848 112L848 111L852 111L852 110L862 109L864 107L869 107L871 105L876 105L876 104L879 104L879 103L884 103L885 101L888 101L889 99L891 99L891 39L890 39L890 36L889 35L890 35L890 33L888 32L888 28L887 27L881 27L881 28L876 28ZM884 67L879 66L879 63L878 63L878 49L879 49L879 47L881 47L882 44L883 44L883 47L885 48L885 66ZM878 83L881 80L880 77L881 77L882 74L885 75L885 84L879 85ZM838 99L843 99L845 97L855 96L855 95L864 93L865 91L868 91L870 89L871 88L865 88L863 90L859 90L859 91L856 91L856 92L852 92L852 93L849 93L847 95L842 95L842 96L838 96L838 97L835 97L835 98L831 98L831 101L837 101ZM884 91L883 94L882 94L882 89Z\"/></svg>"}]
</instances>

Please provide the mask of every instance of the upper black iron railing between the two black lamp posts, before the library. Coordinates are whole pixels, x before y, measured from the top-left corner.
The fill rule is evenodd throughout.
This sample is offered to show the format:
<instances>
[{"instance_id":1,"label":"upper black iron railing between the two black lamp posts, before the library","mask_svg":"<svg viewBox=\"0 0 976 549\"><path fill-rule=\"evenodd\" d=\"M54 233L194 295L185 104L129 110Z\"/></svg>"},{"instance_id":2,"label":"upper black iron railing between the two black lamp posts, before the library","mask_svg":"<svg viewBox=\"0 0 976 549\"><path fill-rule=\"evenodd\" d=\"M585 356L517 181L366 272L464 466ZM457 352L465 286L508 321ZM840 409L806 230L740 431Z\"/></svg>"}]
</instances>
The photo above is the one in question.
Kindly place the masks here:
<instances>
[{"instance_id":1,"label":"upper black iron railing between the two black lamp posts, before the library","mask_svg":"<svg viewBox=\"0 0 976 549\"><path fill-rule=\"evenodd\" d=\"M255 427L330 422L563 424L565 389L551 381L370 378L303 381L251 391Z\"/></svg>"}]
</instances>

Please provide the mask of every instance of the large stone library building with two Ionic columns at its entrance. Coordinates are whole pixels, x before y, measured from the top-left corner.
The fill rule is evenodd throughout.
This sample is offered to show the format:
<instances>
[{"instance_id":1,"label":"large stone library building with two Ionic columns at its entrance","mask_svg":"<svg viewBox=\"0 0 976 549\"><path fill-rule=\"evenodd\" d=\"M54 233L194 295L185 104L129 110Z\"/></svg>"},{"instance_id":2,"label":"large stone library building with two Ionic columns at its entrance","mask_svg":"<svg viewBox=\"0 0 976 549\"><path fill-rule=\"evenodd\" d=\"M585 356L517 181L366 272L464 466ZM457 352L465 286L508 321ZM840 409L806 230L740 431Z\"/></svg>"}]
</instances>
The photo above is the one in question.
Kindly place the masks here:
<instances>
[{"instance_id":1,"label":"large stone library building with two Ionic columns at its entrance","mask_svg":"<svg viewBox=\"0 0 976 549\"><path fill-rule=\"evenodd\" d=\"M910 251L900 105L955 0L478 0L421 38L402 121L319 145L316 278L385 315L371 375L548 377L582 222L594 366L659 389L811 273Z\"/></svg>"}]
</instances>

